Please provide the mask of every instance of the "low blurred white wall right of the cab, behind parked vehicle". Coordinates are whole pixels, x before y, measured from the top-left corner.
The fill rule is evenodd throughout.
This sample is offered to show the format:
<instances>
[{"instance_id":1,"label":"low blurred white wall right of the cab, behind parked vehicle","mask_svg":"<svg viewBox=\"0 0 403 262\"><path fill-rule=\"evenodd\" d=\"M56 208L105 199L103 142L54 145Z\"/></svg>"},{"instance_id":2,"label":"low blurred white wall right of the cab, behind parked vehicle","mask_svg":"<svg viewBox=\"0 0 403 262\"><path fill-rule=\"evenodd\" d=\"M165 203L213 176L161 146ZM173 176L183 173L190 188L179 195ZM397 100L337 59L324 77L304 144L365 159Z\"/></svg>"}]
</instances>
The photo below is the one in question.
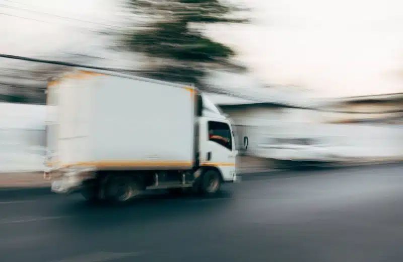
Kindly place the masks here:
<instances>
[{"instance_id":1,"label":"low blurred white wall right of the cab, behind parked vehicle","mask_svg":"<svg viewBox=\"0 0 403 262\"><path fill-rule=\"evenodd\" d=\"M261 126L259 135L252 145L267 143L271 137L305 137L322 141L329 152L343 158L403 157L402 126L293 123L270 129Z\"/></svg>"}]
</instances>

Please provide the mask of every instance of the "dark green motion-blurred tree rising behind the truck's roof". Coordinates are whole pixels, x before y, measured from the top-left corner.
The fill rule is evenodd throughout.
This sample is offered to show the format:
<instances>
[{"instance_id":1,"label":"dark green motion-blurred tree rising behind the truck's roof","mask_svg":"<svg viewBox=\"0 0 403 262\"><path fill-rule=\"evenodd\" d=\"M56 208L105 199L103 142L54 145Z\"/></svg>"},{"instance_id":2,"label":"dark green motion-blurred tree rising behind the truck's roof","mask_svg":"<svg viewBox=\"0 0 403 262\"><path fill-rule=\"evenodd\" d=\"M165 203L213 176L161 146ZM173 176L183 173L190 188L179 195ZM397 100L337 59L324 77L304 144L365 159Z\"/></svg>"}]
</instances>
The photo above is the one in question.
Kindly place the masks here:
<instances>
[{"instance_id":1,"label":"dark green motion-blurred tree rising behind the truck's roof","mask_svg":"<svg viewBox=\"0 0 403 262\"><path fill-rule=\"evenodd\" d=\"M140 22L120 34L119 47L147 56L145 76L203 88L208 70L246 70L231 62L234 50L203 34L207 24L248 22L239 18L246 9L220 0L128 0L127 4Z\"/></svg>"}]
</instances>

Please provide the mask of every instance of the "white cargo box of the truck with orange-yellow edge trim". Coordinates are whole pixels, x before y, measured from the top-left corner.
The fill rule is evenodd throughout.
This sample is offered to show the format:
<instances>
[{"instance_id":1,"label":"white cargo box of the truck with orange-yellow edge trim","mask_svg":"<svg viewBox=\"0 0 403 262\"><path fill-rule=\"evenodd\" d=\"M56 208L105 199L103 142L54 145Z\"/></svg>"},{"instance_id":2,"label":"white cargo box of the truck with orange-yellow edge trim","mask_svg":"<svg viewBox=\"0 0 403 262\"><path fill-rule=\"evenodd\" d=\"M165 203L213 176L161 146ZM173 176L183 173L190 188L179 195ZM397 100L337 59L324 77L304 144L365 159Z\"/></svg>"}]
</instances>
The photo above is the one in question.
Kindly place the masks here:
<instances>
[{"instance_id":1,"label":"white cargo box of the truck with orange-yellow edge trim","mask_svg":"<svg viewBox=\"0 0 403 262\"><path fill-rule=\"evenodd\" d=\"M49 84L56 168L190 169L195 89L119 73L76 71Z\"/></svg>"}]
</instances>

